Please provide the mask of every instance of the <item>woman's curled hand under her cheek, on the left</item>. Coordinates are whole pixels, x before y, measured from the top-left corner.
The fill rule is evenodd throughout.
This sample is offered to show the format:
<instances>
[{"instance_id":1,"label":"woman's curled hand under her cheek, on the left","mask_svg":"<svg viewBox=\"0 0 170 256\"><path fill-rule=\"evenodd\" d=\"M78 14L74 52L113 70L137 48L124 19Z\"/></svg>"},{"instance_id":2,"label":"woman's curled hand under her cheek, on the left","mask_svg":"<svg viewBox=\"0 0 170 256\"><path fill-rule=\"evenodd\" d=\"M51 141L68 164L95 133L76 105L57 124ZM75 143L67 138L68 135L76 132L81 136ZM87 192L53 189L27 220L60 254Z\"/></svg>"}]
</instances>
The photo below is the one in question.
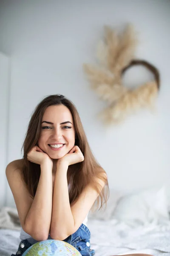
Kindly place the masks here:
<instances>
[{"instance_id":1,"label":"woman's curled hand under her cheek, on the left","mask_svg":"<svg viewBox=\"0 0 170 256\"><path fill-rule=\"evenodd\" d=\"M42 164L44 161L49 161L53 164L52 159L48 156L48 154L44 153L41 148L38 146L34 146L28 154L27 159L32 163Z\"/></svg>"}]
</instances>

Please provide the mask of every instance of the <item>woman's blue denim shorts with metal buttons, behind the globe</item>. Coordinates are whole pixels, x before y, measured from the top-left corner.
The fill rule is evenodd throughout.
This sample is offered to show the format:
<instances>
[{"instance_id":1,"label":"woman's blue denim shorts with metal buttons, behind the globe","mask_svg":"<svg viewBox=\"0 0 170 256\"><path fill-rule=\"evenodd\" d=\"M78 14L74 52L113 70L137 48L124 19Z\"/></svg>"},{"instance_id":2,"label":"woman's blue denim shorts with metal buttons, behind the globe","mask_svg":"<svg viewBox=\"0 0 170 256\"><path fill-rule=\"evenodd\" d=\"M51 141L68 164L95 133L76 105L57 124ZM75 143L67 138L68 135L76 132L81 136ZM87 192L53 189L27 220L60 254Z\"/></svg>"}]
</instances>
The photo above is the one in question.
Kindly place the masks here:
<instances>
[{"instance_id":1,"label":"woman's blue denim shorts with metal buttons, behind the globe","mask_svg":"<svg viewBox=\"0 0 170 256\"><path fill-rule=\"evenodd\" d=\"M82 256L93 256L95 250L90 249L90 237L90 230L82 224L74 234L68 236L64 241L74 246ZM31 245L29 239L22 240L17 253L11 254L11 256L22 256Z\"/></svg>"}]
</instances>

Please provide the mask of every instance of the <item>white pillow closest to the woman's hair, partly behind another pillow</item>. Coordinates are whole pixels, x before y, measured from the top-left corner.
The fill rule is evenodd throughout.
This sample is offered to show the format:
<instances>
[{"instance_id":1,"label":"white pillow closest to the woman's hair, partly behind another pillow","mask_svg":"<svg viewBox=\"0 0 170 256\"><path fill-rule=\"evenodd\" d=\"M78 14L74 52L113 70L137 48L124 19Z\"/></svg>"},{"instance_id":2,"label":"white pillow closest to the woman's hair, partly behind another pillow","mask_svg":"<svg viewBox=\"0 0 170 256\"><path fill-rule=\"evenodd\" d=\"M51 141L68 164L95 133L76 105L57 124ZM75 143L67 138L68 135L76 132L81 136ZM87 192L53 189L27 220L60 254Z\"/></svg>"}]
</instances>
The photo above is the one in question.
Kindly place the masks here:
<instances>
[{"instance_id":1,"label":"white pillow closest to the woman's hair, partly behind another pillow","mask_svg":"<svg viewBox=\"0 0 170 256\"><path fill-rule=\"evenodd\" d=\"M112 214L117 206L117 202L121 198L122 193L118 192L114 189L110 189L110 195L107 202L107 206L105 205L100 209L96 209L97 202L94 204L94 209L96 209L93 212L93 209L89 212L88 218L89 219L98 219L98 220L110 220L112 217Z\"/></svg>"}]
</instances>

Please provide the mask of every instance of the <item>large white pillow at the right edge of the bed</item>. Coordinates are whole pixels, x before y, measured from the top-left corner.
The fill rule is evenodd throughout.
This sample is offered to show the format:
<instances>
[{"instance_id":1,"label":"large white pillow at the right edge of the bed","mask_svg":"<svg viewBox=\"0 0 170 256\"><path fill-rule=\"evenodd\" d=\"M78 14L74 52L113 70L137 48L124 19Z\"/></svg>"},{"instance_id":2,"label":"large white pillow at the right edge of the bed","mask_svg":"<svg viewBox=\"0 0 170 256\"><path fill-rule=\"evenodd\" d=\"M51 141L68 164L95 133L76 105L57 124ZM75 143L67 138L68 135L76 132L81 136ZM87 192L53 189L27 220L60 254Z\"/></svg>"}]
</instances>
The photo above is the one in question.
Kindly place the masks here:
<instances>
[{"instance_id":1,"label":"large white pillow at the right edge of the bed","mask_svg":"<svg viewBox=\"0 0 170 256\"><path fill-rule=\"evenodd\" d=\"M120 199L113 218L124 221L133 227L169 220L164 186L159 190L144 190L137 194L124 196Z\"/></svg>"}]
</instances>

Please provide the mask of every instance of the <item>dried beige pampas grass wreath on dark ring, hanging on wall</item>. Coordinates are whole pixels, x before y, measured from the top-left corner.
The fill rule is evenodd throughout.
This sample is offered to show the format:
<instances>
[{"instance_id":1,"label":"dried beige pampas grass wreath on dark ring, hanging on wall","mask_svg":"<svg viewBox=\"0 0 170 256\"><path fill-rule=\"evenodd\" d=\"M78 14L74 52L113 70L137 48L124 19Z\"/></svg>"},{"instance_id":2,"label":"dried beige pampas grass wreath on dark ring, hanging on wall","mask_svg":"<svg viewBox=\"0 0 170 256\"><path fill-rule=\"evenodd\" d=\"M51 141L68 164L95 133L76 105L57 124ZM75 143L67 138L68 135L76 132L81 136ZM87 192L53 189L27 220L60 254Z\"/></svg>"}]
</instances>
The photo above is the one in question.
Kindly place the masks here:
<instances>
[{"instance_id":1,"label":"dried beige pampas grass wreath on dark ring, hanging on wall","mask_svg":"<svg viewBox=\"0 0 170 256\"><path fill-rule=\"evenodd\" d=\"M108 107L99 114L106 124L119 123L128 114L152 108L155 103L160 87L159 71L147 61L134 59L136 44L133 26L128 25L122 35L105 27L105 42L99 44L97 54L100 66L83 65L91 87L100 99L108 102ZM122 75L134 65L149 69L154 80L135 89L123 86Z\"/></svg>"}]
</instances>

